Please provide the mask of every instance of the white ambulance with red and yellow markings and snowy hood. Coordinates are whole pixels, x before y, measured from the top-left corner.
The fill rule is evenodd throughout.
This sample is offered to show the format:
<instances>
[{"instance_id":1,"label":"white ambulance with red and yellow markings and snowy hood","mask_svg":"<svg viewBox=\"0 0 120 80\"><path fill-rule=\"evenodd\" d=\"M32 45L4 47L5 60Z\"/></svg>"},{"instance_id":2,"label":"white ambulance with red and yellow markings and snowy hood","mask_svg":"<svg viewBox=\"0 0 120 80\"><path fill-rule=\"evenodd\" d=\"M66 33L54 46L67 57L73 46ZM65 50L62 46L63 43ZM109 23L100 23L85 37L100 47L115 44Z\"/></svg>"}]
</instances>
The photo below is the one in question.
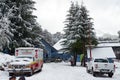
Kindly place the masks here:
<instances>
[{"instance_id":1,"label":"white ambulance with red and yellow markings and snowy hood","mask_svg":"<svg viewBox=\"0 0 120 80\"><path fill-rule=\"evenodd\" d=\"M16 48L15 59L9 63L8 72L12 74L33 75L43 67L43 50L40 48Z\"/></svg>"}]
</instances>

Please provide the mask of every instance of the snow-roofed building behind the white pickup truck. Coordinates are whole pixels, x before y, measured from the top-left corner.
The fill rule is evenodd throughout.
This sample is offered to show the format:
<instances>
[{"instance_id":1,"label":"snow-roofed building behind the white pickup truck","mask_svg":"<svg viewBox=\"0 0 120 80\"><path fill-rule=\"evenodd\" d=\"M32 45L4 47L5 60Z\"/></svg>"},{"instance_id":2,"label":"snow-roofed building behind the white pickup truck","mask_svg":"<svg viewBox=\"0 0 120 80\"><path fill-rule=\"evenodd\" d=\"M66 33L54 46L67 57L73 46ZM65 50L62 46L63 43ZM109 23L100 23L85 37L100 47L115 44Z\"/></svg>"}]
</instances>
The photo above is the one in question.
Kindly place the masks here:
<instances>
[{"instance_id":1,"label":"snow-roofed building behind the white pickup truck","mask_svg":"<svg viewBox=\"0 0 120 80\"><path fill-rule=\"evenodd\" d=\"M100 42L91 49L92 57L107 57L120 59L120 43L119 42ZM90 50L87 50L88 58Z\"/></svg>"}]
</instances>

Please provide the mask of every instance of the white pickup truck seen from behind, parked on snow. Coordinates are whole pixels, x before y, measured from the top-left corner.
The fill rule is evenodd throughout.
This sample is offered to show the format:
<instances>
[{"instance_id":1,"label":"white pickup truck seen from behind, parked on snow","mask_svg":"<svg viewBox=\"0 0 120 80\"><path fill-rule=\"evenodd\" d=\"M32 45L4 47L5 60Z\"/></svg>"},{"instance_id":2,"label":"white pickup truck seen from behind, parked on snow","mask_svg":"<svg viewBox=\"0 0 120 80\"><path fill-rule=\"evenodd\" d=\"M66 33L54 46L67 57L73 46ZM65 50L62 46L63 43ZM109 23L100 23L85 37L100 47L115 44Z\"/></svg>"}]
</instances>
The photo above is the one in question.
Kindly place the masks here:
<instances>
[{"instance_id":1,"label":"white pickup truck seen from behind, parked on snow","mask_svg":"<svg viewBox=\"0 0 120 80\"><path fill-rule=\"evenodd\" d=\"M115 64L107 58L95 58L87 62L86 70L88 73L91 72L93 76L100 73L112 77L115 72Z\"/></svg>"}]
</instances>

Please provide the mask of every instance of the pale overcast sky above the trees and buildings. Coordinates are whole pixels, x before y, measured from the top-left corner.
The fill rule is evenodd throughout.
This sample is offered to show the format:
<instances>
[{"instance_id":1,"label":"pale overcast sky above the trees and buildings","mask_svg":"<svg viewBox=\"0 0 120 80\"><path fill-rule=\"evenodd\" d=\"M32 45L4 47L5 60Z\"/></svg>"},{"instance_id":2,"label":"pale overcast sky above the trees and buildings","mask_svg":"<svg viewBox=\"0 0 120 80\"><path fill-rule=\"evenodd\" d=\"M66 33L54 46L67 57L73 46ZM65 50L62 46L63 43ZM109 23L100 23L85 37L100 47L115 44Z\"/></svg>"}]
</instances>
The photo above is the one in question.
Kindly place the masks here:
<instances>
[{"instance_id":1,"label":"pale overcast sky above the trees and buildings","mask_svg":"<svg viewBox=\"0 0 120 80\"><path fill-rule=\"evenodd\" d=\"M35 0L37 21L51 33L63 32L64 21L71 1L81 0ZM120 30L120 0L83 0L94 20L97 33L117 35Z\"/></svg>"}]
</instances>

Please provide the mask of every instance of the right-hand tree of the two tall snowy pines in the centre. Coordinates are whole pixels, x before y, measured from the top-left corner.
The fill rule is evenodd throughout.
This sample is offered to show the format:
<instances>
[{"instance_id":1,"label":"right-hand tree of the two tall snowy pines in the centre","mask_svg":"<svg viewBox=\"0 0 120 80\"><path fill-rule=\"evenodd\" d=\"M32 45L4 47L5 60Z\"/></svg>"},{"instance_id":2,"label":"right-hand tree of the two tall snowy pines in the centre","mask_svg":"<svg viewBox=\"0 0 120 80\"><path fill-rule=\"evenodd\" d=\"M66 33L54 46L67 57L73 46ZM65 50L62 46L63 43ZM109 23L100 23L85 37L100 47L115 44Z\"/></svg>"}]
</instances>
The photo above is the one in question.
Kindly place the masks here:
<instances>
[{"instance_id":1,"label":"right-hand tree of the two tall snowy pines in the centre","mask_svg":"<svg viewBox=\"0 0 120 80\"><path fill-rule=\"evenodd\" d=\"M78 14L79 26L81 26L81 41L82 41L82 53L84 54L81 62L82 66L85 66L86 48L85 45L97 45L97 39L94 33L92 18L88 14L86 7L81 4L80 14Z\"/></svg>"}]
</instances>

